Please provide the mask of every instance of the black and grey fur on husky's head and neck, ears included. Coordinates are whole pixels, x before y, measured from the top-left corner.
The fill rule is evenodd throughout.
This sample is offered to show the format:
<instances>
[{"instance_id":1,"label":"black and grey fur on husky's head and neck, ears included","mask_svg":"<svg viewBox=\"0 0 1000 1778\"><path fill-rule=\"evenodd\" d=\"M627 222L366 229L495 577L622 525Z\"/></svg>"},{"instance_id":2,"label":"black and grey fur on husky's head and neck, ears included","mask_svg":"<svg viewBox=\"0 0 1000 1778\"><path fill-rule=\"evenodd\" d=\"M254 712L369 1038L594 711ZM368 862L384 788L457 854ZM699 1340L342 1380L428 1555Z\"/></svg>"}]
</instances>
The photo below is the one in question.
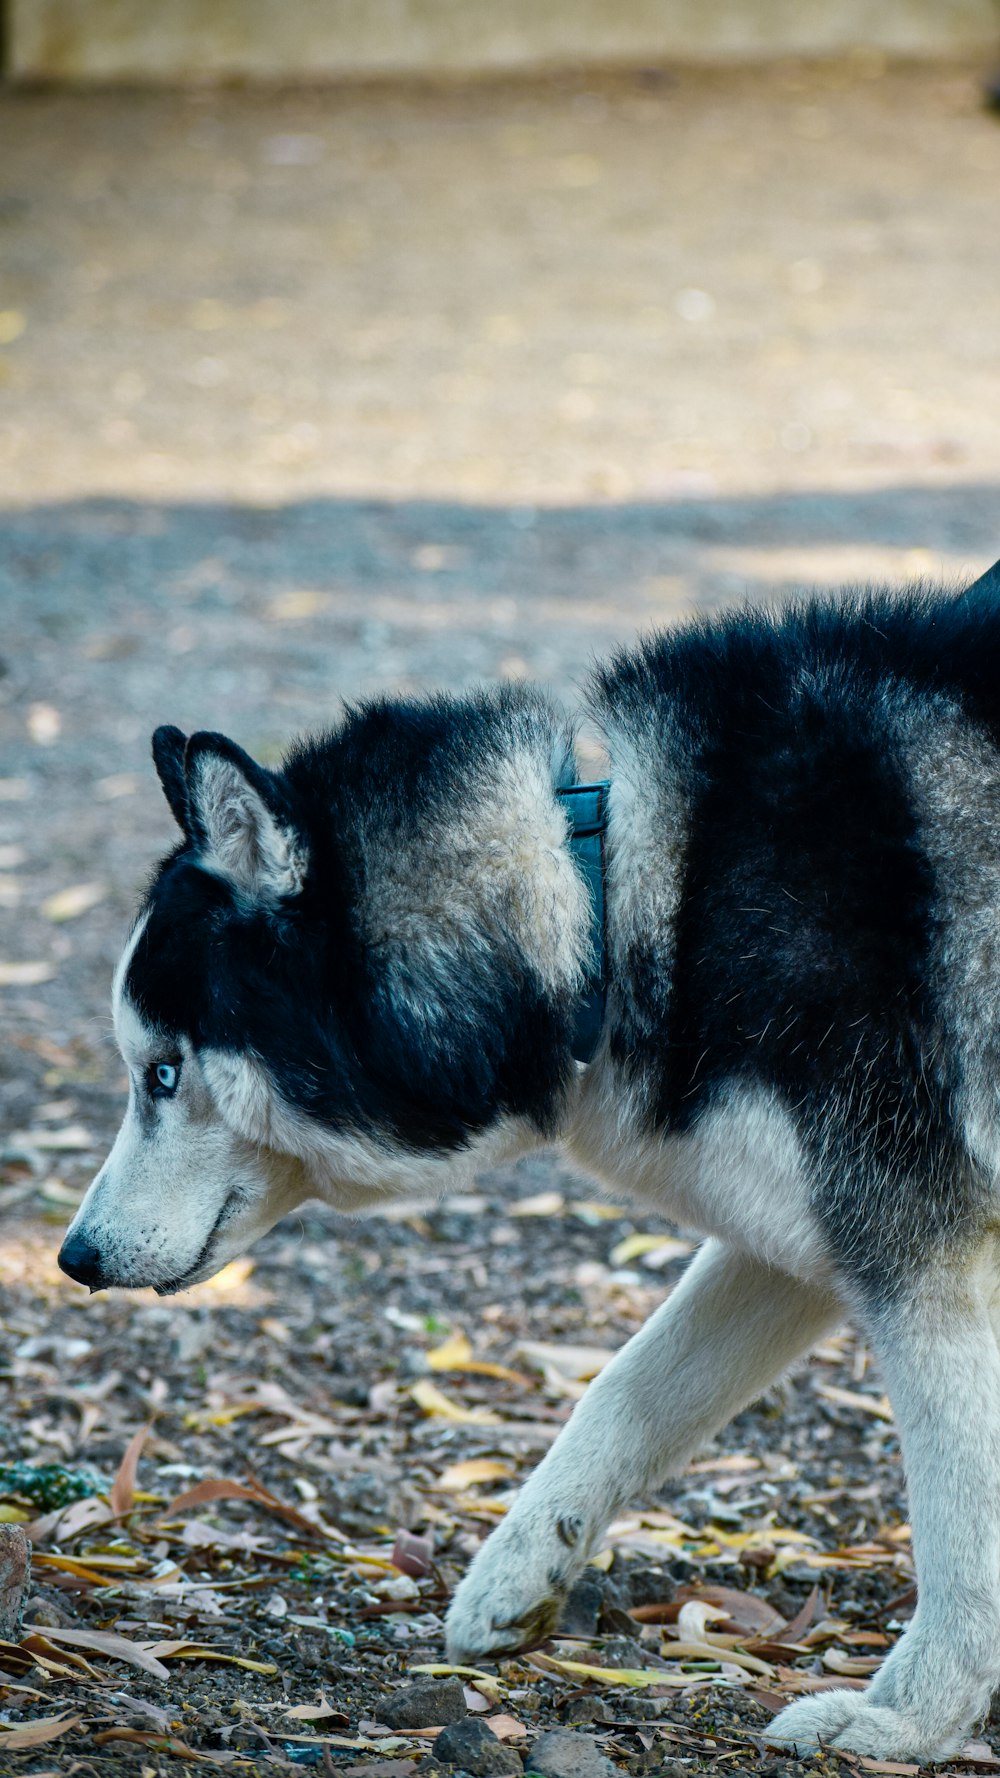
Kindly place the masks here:
<instances>
[{"instance_id":1,"label":"black and grey fur on husky's head and neck, ears included","mask_svg":"<svg viewBox=\"0 0 1000 1778\"><path fill-rule=\"evenodd\" d=\"M415 1150L459 1149L502 1115L552 1129L573 985L541 980L493 891L504 861L482 873L450 837L470 797L493 807L514 747L553 782L569 770L560 718L527 688L367 706L274 773L224 736L157 731L187 845L151 885L133 1005L196 1049L260 1058L331 1129ZM276 887L295 869L295 891Z\"/></svg>"}]
</instances>

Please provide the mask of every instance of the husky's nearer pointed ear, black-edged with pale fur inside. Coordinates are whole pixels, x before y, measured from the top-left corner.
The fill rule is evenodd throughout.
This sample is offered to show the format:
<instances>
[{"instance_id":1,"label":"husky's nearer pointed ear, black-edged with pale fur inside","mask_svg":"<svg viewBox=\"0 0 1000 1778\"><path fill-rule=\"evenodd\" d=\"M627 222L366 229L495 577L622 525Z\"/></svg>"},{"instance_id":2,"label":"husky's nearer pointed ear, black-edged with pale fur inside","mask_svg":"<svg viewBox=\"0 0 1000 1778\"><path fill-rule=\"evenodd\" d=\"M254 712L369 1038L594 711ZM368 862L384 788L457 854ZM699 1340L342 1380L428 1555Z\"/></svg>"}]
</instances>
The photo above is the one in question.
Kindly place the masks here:
<instances>
[{"instance_id":1,"label":"husky's nearer pointed ear, black-edged with pale fur inside","mask_svg":"<svg viewBox=\"0 0 1000 1778\"><path fill-rule=\"evenodd\" d=\"M192 734L185 752L190 837L201 864L254 901L302 887L308 855L281 786L224 734Z\"/></svg>"}]
</instances>

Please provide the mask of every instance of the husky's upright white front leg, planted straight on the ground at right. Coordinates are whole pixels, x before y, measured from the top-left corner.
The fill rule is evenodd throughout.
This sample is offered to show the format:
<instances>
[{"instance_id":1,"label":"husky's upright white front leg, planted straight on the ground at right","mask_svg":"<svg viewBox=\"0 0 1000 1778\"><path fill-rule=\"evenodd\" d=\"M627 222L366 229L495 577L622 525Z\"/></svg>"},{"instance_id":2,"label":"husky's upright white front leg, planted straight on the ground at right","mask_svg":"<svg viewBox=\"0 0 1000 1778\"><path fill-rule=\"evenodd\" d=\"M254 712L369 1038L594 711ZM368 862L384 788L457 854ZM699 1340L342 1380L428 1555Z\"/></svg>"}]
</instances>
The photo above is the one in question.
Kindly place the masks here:
<instances>
[{"instance_id":1,"label":"husky's upright white front leg, planted straight on the ground at right","mask_svg":"<svg viewBox=\"0 0 1000 1778\"><path fill-rule=\"evenodd\" d=\"M984 1282L936 1271L875 1317L909 1486L918 1607L868 1691L802 1698L769 1741L947 1758L1000 1680L1000 1353Z\"/></svg>"}]
</instances>

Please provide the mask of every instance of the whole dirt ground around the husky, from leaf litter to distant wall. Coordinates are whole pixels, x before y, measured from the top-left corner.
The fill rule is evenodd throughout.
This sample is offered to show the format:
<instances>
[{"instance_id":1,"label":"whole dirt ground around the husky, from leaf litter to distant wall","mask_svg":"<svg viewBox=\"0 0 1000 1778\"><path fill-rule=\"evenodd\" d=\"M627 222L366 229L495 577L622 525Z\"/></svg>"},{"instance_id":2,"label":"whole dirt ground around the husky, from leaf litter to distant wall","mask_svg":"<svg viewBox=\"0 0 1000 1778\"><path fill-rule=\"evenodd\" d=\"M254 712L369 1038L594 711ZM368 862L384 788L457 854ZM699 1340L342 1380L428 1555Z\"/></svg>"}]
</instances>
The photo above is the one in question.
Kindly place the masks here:
<instances>
[{"instance_id":1,"label":"whole dirt ground around the husky, from leaf litter to distant wall","mask_svg":"<svg viewBox=\"0 0 1000 1778\"><path fill-rule=\"evenodd\" d=\"M116 1517L53 1518L0 1470L36 1540L0 1773L459 1769L391 1694L443 1661L470 1552L685 1237L553 1154L310 1213L176 1301L62 1278L123 1102L110 973L171 843L148 736L274 759L345 697L573 697L690 610L986 567L1000 126L979 71L868 57L5 94L0 148L0 1460L107 1495L149 1426ZM838 1769L760 1734L863 1682L911 1609L886 1412L845 1330L614 1527L568 1634L461 1677L512 1719L511 1769L553 1723L619 1771ZM703 1586L728 1641L671 1661ZM36 1746L4 1728L48 1718Z\"/></svg>"}]
</instances>

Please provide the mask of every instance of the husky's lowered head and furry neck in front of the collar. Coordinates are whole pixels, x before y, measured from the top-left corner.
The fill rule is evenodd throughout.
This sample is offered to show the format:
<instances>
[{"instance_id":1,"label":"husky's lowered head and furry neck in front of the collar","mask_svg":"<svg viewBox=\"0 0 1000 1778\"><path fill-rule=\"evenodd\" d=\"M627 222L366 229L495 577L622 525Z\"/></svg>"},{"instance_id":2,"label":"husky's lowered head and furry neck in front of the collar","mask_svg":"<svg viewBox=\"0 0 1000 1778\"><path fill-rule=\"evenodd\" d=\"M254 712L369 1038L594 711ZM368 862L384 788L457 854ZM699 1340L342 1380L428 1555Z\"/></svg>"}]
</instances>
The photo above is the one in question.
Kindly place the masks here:
<instances>
[{"instance_id":1,"label":"husky's lowered head and furry neck in front of the collar","mask_svg":"<svg viewBox=\"0 0 1000 1778\"><path fill-rule=\"evenodd\" d=\"M116 971L128 1111L66 1234L69 1277L181 1289L308 1197L441 1189L550 1124L566 1069L543 1081L525 1031L557 1045L564 992L514 917L507 836L482 859L464 816L464 850L427 837L432 798L454 809L468 781L468 733L475 711L452 745L434 706L372 709L267 772L221 734L157 729L183 841Z\"/></svg>"}]
</instances>

